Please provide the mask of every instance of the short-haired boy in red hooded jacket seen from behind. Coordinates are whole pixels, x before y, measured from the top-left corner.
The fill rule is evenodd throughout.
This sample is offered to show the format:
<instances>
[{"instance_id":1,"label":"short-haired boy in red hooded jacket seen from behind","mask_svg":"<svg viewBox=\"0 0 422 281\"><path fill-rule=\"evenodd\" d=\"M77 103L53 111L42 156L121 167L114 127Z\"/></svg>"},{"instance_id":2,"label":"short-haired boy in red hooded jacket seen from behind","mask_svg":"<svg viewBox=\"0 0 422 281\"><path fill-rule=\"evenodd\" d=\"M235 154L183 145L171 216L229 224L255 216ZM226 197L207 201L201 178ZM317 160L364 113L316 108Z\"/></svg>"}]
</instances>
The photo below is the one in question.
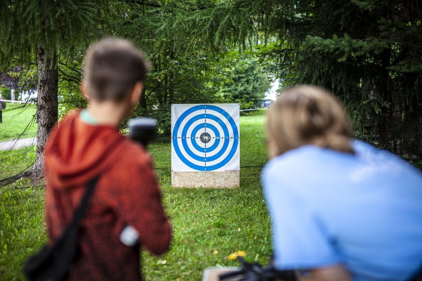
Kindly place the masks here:
<instances>
[{"instance_id":1,"label":"short-haired boy in red hooded jacket seen from behind","mask_svg":"<svg viewBox=\"0 0 422 281\"><path fill-rule=\"evenodd\" d=\"M142 53L130 42L99 41L87 52L81 84L88 109L70 113L48 140L50 240L72 220L87 183L100 176L81 221L79 254L68 280L141 280L140 247L153 254L169 247L171 227L151 156L118 130L138 103L148 70ZM120 239L127 226L139 235L135 246Z\"/></svg>"}]
</instances>

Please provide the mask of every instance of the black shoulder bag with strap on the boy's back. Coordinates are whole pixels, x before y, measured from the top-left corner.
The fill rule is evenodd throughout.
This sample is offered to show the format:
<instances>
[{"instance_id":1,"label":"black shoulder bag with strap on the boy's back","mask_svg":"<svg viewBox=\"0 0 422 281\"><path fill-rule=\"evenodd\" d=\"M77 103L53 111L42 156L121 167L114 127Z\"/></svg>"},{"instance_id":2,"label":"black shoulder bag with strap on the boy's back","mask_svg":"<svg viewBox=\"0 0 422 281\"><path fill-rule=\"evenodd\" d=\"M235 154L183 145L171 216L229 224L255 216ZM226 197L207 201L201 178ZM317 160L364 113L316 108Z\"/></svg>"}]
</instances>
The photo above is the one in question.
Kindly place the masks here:
<instances>
[{"instance_id":1,"label":"black shoulder bag with strap on the boy's back","mask_svg":"<svg viewBox=\"0 0 422 281\"><path fill-rule=\"evenodd\" d=\"M76 256L79 224L98 179L99 177L96 177L88 183L87 190L75 210L72 222L66 227L63 234L54 241L53 245L45 245L38 253L26 260L23 272L28 280L60 281L66 278Z\"/></svg>"}]
</instances>

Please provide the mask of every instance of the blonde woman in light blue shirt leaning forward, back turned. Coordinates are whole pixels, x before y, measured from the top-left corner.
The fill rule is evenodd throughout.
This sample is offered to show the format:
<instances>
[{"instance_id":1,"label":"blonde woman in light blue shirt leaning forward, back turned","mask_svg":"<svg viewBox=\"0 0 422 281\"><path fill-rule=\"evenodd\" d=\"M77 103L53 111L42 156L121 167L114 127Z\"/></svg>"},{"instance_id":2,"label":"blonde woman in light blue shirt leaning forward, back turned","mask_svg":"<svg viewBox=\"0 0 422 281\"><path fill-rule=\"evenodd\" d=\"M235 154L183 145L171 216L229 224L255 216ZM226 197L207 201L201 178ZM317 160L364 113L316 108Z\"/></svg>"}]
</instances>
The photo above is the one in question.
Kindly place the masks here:
<instances>
[{"instance_id":1,"label":"blonde woman in light blue shirt leaning forward, back turned","mask_svg":"<svg viewBox=\"0 0 422 281\"><path fill-rule=\"evenodd\" d=\"M422 265L422 175L352 139L345 108L315 86L268 110L262 174L274 266L304 280L412 280Z\"/></svg>"}]
</instances>

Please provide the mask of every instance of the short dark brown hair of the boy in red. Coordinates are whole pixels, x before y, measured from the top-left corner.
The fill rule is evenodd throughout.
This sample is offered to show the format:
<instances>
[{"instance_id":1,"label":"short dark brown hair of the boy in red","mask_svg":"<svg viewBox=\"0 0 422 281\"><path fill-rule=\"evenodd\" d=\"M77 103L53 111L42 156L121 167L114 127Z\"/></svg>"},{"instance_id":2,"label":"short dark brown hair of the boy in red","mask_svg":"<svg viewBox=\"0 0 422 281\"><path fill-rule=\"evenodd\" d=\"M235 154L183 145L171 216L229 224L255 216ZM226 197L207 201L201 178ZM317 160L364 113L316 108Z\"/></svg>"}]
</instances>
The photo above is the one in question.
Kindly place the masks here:
<instances>
[{"instance_id":1,"label":"short dark brown hair of the boy in red","mask_svg":"<svg viewBox=\"0 0 422 281\"><path fill-rule=\"evenodd\" d=\"M90 97L122 101L150 70L143 53L123 39L106 38L90 47L85 56L84 83Z\"/></svg>"}]
</instances>

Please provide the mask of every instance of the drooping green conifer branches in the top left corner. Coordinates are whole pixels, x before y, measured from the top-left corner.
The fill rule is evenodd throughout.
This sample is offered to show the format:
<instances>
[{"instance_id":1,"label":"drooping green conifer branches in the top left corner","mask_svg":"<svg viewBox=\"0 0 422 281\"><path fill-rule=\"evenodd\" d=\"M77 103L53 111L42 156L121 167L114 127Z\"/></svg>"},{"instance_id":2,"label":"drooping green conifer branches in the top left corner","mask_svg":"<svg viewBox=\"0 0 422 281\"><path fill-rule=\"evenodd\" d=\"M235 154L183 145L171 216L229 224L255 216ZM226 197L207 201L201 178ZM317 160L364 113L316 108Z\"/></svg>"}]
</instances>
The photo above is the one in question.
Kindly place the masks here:
<instances>
[{"instance_id":1,"label":"drooping green conifer branches in the top left corner","mask_svg":"<svg viewBox=\"0 0 422 281\"><path fill-rule=\"evenodd\" d=\"M34 61L41 45L50 57L84 50L106 7L106 1L1 0L1 67L17 58Z\"/></svg>"}]
</instances>

